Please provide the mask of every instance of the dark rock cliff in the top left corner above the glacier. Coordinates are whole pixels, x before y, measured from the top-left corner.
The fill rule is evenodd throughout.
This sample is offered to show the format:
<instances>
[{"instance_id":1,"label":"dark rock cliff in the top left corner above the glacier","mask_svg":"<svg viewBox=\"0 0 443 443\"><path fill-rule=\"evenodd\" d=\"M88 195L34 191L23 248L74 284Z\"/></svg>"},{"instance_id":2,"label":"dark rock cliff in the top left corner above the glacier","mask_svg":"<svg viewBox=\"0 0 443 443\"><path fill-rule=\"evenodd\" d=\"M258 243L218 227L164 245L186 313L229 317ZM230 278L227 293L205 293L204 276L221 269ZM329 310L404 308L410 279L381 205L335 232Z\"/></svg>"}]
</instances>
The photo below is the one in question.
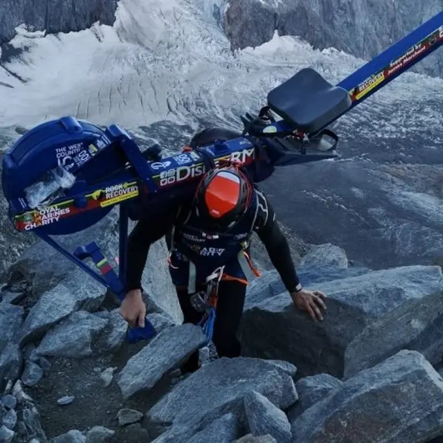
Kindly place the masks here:
<instances>
[{"instance_id":1,"label":"dark rock cliff in the top left corner above the glacier","mask_svg":"<svg viewBox=\"0 0 443 443\"><path fill-rule=\"evenodd\" d=\"M9 42L21 24L49 34L87 29L96 21L111 25L117 3L118 0L2 0L0 45Z\"/></svg>"}]
</instances>

